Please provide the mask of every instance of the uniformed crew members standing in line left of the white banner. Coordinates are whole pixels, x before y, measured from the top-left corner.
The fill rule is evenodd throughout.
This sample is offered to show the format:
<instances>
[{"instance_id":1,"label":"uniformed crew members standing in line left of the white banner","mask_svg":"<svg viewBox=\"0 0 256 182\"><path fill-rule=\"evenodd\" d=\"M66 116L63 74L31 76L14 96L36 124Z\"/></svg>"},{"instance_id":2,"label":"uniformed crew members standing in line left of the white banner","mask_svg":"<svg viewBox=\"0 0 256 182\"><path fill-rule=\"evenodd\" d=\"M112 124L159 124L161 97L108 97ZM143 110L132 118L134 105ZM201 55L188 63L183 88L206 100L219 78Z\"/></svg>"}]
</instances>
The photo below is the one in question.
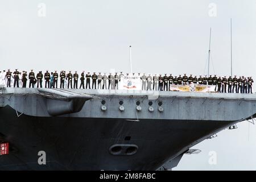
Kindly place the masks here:
<instances>
[{"instance_id":1,"label":"uniformed crew members standing in line left of the white banner","mask_svg":"<svg viewBox=\"0 0 256 182\"><path fill-rule=\"evenodd\" d=\"M77 72L72 74L71 71L69 71L69 73L67 74L65 71L61 71L60 74L58 74L57 71L55 71L54 73L51 72L51 74L48 71L46 71L44 75L42 71L39 71L39 73L37 73L37 75L35 76L35 73L33 72L33 70L31 70L31 72L27 74L26 71L23 71L21 73L18 71L18 69L15 69L14 72L11 72L10 69L8 69L8 71L6 72L6 75L5 75L5 71L3 71L1 75L4 75L2 80L6 80L7 87L11 87L11 78L14 78L14 84L13 84L14 87L19 87L19 80L21 80L23 88L27 87L27 81L29 81L29 88L31 87L34 88L36 82L37 82L37 87L42 88L43 78L45 81L45 85L44 85L45 88L57 88L58 80L60 77L60 88L68 88L68 89L76 88L77 89L78 81L79 81L79 75L77 74ZM115 75L112 75L112 73L110 73L109 76L106 76L106 73L104 73L104 75L101 75L101 73L96 75L96 72L93 72L93 75L90 75L90 72L88 72L85 75L85 72L83 71L80 76L80 89L81 88L90 89L91 79L92 79L92 88L94 89L96 89L96 85L98 85L97 89L107 89L107 88L118 89L118 81L121 80L121 76L122 76L122 73L120 75L117 75L117 73L115 73ZM108 80L108 85L107 85L107 80ZM85 86L85 81L86 81L86 86Z\"/></svg>"}]
</instances>

